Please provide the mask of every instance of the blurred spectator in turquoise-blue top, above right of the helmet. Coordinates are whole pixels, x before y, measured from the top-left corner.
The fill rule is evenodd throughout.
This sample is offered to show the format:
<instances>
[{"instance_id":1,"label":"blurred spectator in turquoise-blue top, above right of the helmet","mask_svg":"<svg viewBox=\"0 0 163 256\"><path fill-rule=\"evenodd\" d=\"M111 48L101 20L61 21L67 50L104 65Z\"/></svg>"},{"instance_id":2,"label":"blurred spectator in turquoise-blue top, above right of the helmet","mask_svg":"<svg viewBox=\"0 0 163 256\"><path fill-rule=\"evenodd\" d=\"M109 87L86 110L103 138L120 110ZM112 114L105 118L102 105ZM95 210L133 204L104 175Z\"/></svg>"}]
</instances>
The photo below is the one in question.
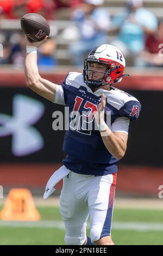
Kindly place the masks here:
<instances>
[{"instance_id":1,"label":"blurred spectator in turquoise-blue top, above right of the helmet","mask_svg":"<svg viewBox=\"0 0 163 256\"><path fill-rule=\"evenodd\" d=\"M145 46L145 35L153 33L158 25L155 15L142 5L142 0L128 0L126 11L112 20L118 36L111 44L120 48L126 57L139 54Z\"/></svg>"}]
</instances>

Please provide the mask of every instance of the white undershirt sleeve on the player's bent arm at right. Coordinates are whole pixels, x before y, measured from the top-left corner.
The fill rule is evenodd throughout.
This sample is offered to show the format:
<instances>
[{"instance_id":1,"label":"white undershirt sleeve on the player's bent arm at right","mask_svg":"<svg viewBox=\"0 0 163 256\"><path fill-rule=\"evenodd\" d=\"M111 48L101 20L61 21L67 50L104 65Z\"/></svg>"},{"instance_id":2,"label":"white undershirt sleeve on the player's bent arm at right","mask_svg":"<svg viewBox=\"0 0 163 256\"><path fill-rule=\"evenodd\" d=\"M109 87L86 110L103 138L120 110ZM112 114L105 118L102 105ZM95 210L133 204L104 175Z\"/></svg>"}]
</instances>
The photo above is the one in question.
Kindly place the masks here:
<instances>
[{"instance_id":1,"label":"white undershirt sleeve on the player's bent arm at right","mask_svg":"<svg viewBox=\"0 0 163 256\"><path fill-rule=\"evenodd\" d=\"M112 132L123 132L128 135L130 119L127 117L118 117L111 125Z\"/></svg>"}]
</instances>

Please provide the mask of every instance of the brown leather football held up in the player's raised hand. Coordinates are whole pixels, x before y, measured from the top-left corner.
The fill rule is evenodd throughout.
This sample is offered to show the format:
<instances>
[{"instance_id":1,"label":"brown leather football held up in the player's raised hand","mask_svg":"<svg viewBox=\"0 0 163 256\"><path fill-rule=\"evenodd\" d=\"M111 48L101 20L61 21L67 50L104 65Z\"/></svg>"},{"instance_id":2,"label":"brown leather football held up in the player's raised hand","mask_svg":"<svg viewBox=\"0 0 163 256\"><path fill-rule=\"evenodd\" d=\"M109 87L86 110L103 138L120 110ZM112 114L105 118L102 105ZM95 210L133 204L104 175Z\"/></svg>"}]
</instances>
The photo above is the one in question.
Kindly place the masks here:
<instances>
[{"instance_id":1,"label":"brown leather football held up in the player's raised hand","mask_svg":"<svg viewBox=\"0 0 163 256\"><path fill-rule=\"evenodd\" d=\"M28 13L21 18L21 28L32 41L41 41L49 35L50 28L47 20L36 13Z\"/></svg>"}]
</instances>

